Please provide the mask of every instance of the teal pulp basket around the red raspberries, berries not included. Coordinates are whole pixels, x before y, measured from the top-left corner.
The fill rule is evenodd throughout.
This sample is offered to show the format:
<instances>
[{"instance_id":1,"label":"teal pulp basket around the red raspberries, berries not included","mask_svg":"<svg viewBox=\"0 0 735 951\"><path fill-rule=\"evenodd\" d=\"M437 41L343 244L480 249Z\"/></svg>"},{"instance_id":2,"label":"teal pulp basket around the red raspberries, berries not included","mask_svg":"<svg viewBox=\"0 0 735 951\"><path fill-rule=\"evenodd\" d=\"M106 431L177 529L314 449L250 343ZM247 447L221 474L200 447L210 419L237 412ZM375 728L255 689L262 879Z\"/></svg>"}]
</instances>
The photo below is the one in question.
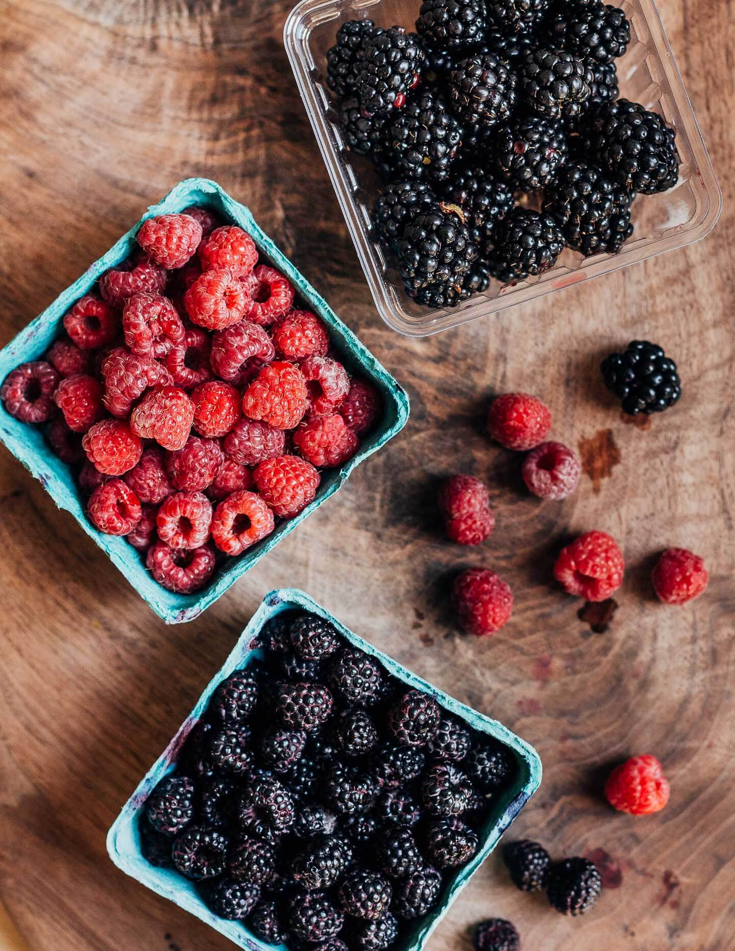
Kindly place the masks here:
<instances>
[{"instance_id":1,"label":"teal pulp basket around the red raspberries, berries not included","mask_svg":"<svg viewBox=\"0 0 735 951\"><path fill-rule=\"evenodd\" d=\"M0 382L19 363L40 359L62 330L62 320L69 308L87 294L100 276L111 267L125 261L137 247L136 235L147 218L167 212L183 211L189 205L203 205L217 212L230 223L239 224L258 246L261 261L278 268L297 289L303 303L319 315L329 328L334 349L348 371L373 382L383 398L383 417L379 425L360 443L358 453L338 469L324 470L319 492L314 501L295 518L281 522L273 534L258 545L230 560L218 569L212 580L201 591L193 594L169 592L145 570L141 556L125 538L98 532L87 519L85 501L79 494L71 470L48 446L40 428L10 416L0 403L0 440L13 456L39 479L60 509L70 512L90 538L106 552L113 564L145 602L164 619L176 624L190 621L216 601L237 579L256 565L271 551L280 539L290 534L306 516L338 492L356 466L377 452L405 426L409 415L409 400L405 390L382 367L355 334L339 320L329 304L285 257L280 248L261 230L251 212L231 198L222 187L209 179L186 179L173 188L159 204L151 205L143 218L135 224L107 253L94 262L85 274L63 291L47 309L32 320L17 337L0 350Z\"/></svg>"}]
</instances>

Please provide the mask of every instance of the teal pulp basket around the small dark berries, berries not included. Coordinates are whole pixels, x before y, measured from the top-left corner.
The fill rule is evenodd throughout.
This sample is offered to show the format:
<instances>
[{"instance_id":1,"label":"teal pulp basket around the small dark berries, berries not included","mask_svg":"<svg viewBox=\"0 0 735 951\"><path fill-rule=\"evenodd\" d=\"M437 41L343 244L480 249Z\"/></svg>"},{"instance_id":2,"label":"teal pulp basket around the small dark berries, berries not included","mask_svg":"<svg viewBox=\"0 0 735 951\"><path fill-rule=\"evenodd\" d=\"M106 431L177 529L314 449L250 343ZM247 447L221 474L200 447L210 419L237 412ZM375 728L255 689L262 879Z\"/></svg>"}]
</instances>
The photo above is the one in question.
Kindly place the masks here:
<instances>
[{"instance_id":1,"label":"teal pulp basket around the small dark berries, berries not included","mask_svg":"<svg viewBox=\"0 0 735 951\"><path fill-rule=\"evenodd\" d=\"M455 875L445 883L433 913L426 919L417 922L413 932L395 945L395 951L422 951L429 940L429 936L444 917L449 906L470 881L477 867L490 855L502 834L513 823L515 817L538 788L541 782L541 761L536 751L510 729L496 720L491 720L490 717L478 713L477 710L466 707L453 697L432 687L431 684L427 684L420 677L416 677L416 674L401 667L395 660L368 644L367 641L362 640L357 634L348 631L339 623L337 618L319 607L308 594L294 589L270 592L265 596L261 607L253 615L245 630L242 631L222 670L209 683L200 697L199 703L186 718L179 732L147 771L142 782L128 799L126 805L123 806L122 812L107 833L107 852L112 861L119 868L122 868L127 875L190 911L203 922L211 924L213 928L216 928L238 947L258 949L258 951L274 951L275 946L273 944L265 944L259 941L248 931L245 924L227 922L212 914L200 898L194 883L187 881L176 871L149 864L141 850L139 819L145 800L151 790L175 769L184 741L203 715L214 690L233 670L242 670L252 660L261 657L261 651L258 648L258 636L263 625L270 618L280 614L281 611L293 610L311 611L329 621L354 648L370 654L389 674L397 677L408 687L430 694L442 708L463 720L474 731L492 737L503 744L513 754L517 766L513 785L494 802L491 814L481 830L480 848L474 859L456 871ZM286 945L281 944L278 947L280 951L289 951Z\"/></svg>"}]
</instances>

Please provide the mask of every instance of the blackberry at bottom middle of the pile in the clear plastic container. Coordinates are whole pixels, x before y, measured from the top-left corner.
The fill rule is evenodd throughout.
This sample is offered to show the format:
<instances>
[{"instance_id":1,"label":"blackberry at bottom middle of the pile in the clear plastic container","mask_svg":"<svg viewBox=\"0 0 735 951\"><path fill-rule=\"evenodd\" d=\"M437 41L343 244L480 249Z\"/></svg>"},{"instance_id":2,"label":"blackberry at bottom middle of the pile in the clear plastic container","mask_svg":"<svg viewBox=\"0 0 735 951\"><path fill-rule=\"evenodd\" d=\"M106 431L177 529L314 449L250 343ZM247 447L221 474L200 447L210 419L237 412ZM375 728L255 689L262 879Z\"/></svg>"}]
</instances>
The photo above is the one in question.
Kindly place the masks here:
<instances>
[{"instance_id":1,"label":"blackberry at bottom middle of the pile in the clear plastic container","mask_svg":"<svg viewBox=\"0 0 735 951\"><path fill-rule=\"evenodd\" d=\"M563 250L558 224L532 208L513 208L497 230L495 253L516 279L549 270Z\"/></svg>"}]
</instances>

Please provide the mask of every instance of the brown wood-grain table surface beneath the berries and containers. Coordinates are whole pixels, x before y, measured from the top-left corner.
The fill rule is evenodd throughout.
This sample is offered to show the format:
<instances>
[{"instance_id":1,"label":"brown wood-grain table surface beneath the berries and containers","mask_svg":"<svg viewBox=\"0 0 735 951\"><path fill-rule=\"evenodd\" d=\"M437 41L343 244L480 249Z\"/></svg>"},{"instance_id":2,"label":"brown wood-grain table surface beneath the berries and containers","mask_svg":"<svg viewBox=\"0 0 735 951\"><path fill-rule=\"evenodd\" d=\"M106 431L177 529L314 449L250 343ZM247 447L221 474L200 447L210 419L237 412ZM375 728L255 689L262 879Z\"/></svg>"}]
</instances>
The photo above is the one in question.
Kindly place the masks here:
<instances>
[{"instance_id":1,"label":"brown wood-grain table surface beneath the berries and containers","mask_svg":"<svg viewBox=\"0 0 735 951\"><path fill-rule=\"evenodd\" d=\"M219 180L411 393L401 434L203 617L166 628L68 514L0 452L0 895L32 951L226 951L118 871L105 834L264 592L293 585L539 750L541 790L514 828L591 854L608 888L568 921L493 857L432 951L485 916L526 951L725 951L735 940L735 391L731 4L661 0L725 212L704 242L431 340L378 319L281 45L289 0L4 0L0 4L0 344L189 175ZM679 363L685 395L629 425L596 365L632 338ZM563 503L518 488L491 445L493 392L530 390L587 474ZM487 479L497 527L464 551L436 530L436 481ZM628 573L609 630L550 583L563 539L614 534ZM701 553L706 596L660 606L651 554ZM457 568L513 586L513 621L458 636ZM653 752L672 795L636 820L600 796L611 761Z\"/></svg>"}]
</instances>

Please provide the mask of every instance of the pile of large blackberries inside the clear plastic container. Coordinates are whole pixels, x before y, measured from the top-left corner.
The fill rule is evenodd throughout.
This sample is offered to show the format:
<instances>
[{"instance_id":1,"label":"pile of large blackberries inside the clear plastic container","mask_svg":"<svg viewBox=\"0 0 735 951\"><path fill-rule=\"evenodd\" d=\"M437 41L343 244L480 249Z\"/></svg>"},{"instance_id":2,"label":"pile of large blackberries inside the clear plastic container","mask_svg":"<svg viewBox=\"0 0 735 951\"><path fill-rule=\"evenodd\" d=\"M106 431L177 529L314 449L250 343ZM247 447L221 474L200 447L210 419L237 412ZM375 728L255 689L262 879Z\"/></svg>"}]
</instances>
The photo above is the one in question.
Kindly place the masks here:
<instances>
[{"instance_id":1,"label":"pile of large blackberries inside the clear plastic container","mask_svg":"<svg viewBox=\"0 0 735 951\"><path fill-rule=\"evenodd\" d=\"M385 182L374 236L409 297L454 307L565 245L620 250L636 194L679 169L662 116L618 98L629 41L601 0L424 0L415 33L339 27L327 84L345 146Z\"/></svg>"}]
</instances>

